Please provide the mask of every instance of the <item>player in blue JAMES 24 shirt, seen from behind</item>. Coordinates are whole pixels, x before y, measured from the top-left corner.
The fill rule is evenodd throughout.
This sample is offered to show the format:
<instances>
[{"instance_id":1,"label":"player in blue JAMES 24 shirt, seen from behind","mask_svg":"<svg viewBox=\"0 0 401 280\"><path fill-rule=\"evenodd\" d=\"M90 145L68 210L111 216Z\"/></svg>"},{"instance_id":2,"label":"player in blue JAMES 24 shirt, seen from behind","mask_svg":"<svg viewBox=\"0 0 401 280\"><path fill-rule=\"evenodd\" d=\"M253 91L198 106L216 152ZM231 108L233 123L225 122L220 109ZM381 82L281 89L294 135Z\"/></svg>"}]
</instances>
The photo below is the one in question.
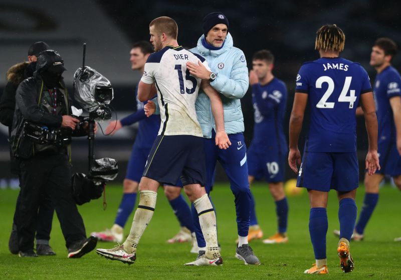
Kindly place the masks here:
<instances>
[{"instance_id":1,"label":"player in blue JAMES 24 shirt, seen from behind","mask_svg":"<svg viewBox=\"0 0 401 280\"><path fill-rule=\"evenodd\" d=\"M349 240L356 220L355 194L358 187L356 156L356 105L365 115L369 149L365 167L369 175L379 169L377 119L367 72L356 62L339 57L345 35L335 24L323 25L316 33L315 49L320 58L304 63L296 78L290 117L288 163L298 172L297 186L308 189L309 233L316 262L305 273L327 273L327 196L337 191L340 239L337 252L344 272L354 268ZM306 105L310 108L309 133L301 161L298 138Z\"/></svg>"}]
</instances>

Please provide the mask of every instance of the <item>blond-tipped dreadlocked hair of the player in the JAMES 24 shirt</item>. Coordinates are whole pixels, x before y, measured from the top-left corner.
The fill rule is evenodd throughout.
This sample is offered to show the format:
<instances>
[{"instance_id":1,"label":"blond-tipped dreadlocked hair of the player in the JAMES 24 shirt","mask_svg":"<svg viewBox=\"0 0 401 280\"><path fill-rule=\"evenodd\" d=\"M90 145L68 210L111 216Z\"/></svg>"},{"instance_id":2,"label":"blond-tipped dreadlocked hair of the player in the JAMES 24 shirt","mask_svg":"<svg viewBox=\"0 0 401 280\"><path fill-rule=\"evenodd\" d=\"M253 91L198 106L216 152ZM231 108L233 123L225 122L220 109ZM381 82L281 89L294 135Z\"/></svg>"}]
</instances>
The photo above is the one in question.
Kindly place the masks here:
<instances>
[{"instance_id":1,"label":"blond-tipped dreadlocked hair of the player in the JAMES 24 shirt","mask_svg":"<svg viewBox=\"0 0 401 280\"><path fill-rule=\"evenodd\" d=\"M345 34L336 24L325 24L316 32L315 49L342 51Z\"/></svg>"}]
</instances>

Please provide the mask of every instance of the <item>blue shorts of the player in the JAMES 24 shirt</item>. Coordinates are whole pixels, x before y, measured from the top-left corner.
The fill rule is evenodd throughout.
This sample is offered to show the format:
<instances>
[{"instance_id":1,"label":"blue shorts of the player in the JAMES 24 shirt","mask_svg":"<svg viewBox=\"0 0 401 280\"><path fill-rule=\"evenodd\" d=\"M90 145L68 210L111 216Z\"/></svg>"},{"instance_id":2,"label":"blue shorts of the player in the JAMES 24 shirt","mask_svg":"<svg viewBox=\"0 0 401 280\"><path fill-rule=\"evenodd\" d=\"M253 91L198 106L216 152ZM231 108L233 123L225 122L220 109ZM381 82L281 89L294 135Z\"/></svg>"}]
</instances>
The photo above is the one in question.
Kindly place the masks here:
<instances>
[{"instance_id":1,"label":"blue shorts of the player in the JAMES 24 shirt","mask_svg":"<svg viewBox=\"0 0 401 280\"><path fill-rule=\"evenodd\" d=\"M359 185L356 152L304 152L297 186L351 191Z\"/></svg>"}]
</instances>

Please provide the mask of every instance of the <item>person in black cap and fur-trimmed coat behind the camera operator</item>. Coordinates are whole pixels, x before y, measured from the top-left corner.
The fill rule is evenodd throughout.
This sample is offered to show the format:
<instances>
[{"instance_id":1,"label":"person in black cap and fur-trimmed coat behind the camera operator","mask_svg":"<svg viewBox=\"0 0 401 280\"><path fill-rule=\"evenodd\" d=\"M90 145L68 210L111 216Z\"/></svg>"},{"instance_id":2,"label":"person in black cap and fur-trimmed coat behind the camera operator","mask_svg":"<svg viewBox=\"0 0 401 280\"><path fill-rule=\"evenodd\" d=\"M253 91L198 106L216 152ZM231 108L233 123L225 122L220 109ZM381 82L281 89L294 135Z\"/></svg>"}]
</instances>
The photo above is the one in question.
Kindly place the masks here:
<instances>
[{"instance_id":1,"label":"person in black cap and fur-trimmed coat behind the camera operator","mask_svg":"<svg viewBox=\"0 0 401 280\"><path fill-rule=\"evenodd\" d=\"M28 49L28 61L15 64L7 71L7 84L0 101L0 122L9 127L9 137L11 136L14 110L16 107L17 87L25 78L33 76L36 69L38 54L49 48L49 45L43 41L33 43ZM20 161L13 156L11 149L10 157L11 173L20 177ZM19 201L20 199L17 198L16 208L18 208ZM36 227L36 251L39 255L56 254L49 245L53 213L54 207L50 199L44 197L40 202ZM14 214L13 227L9 240L9 249L13 254L17 254L19 251L17 223L17 215Z\"/></svg>"}]
</instances>

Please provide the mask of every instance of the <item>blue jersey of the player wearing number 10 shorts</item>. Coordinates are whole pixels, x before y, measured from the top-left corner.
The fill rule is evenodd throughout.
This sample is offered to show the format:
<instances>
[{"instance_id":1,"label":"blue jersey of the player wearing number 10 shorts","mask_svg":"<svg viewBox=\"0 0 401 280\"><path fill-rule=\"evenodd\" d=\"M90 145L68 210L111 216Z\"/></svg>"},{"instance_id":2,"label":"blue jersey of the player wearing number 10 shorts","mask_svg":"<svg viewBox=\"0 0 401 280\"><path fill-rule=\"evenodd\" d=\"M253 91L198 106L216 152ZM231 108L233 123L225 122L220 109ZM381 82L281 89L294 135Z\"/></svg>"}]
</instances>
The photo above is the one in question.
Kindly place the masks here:
<instances>
[{"instance_id":1,"label":"blue jersey of the player wearing number 10 shorts","mask_svg":"<svg viewBox=\"0 0 401 280\"><path fill-rule=\"evenodd\" d=\"M254 137L252 145L261 151L288 151L283 131L283 122L287 103L285 83L273 78L269 83L252 85L252 102L254 107Z\"/></svg>"}]
</instances>

